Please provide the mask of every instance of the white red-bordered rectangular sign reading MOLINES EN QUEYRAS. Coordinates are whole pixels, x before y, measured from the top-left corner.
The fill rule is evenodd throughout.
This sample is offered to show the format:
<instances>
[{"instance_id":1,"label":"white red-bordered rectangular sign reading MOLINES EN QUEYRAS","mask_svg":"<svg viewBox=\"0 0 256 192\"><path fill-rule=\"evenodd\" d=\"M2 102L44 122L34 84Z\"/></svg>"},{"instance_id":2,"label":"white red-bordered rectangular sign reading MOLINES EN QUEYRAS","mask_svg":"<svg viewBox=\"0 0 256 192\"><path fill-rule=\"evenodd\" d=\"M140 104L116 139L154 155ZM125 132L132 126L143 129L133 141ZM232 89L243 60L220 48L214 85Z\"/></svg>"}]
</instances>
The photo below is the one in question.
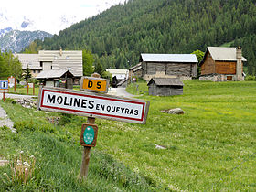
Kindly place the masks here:
<instances>
[{"instance_id":1,"label":"white red-bordered rectangular sign reading MOLINES EN QUEYRAS","mask_svg":"<svg viewBox=\"0 0 256 192\"><path fill-rule=\"evenodd\" d=\"M85 91L43 87L38 109L129 123L145 123L149 101L114 97Z\"/></svg>"}]
</instances>

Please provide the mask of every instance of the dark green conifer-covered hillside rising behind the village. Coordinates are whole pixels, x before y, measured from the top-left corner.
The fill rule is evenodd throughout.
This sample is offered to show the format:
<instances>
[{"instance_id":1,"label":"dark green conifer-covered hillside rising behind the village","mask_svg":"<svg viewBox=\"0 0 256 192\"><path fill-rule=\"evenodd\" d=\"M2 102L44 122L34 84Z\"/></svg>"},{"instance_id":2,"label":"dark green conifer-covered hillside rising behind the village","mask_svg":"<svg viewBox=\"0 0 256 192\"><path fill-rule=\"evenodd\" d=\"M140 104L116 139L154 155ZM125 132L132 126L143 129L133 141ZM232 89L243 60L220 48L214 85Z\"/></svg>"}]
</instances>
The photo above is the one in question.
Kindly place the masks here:
<instances>
[{"instance_id":1,"label":"dark green conifer-covered hillside rising behind the village","mask_svg":"<svg viewBox=\"0 0 256 192\"><path fill-rule=\"evenodd\" d=\"M234 41L256 62L255 0L130 0L81 21L59 36L37 41L45 49L90 49L105 68L128 68L142 52L191 53ZM129 62L128 62L129 61Z\"/></svg>"}]
</instances>

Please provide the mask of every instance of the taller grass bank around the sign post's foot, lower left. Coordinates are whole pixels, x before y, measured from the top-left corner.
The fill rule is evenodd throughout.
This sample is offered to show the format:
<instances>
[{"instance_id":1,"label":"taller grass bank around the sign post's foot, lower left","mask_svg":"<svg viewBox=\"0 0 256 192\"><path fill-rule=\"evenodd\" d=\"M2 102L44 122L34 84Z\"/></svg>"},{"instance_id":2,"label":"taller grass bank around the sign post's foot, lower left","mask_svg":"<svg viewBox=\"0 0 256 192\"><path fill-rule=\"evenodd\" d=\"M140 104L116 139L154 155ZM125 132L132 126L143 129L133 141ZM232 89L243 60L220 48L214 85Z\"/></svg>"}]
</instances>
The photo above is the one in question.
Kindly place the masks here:
<instances>
[{"instance_id":1,"label":"taller grass bank around the sign post's foot, lower left","mask_svg":"<svg viewBox=\"0 0 256 192\"><path fill-rule=\"evenodd\" d=\"M77 179L82 156L82 147L79 144L80 126L76 127L73 135L68 129L61 130L65 127L46 121L47 116L62 117L62 114L25 110L11 102L1 105L7 112L16 111L10 116L16 122L18 133L0 128L0 156L5 156L12 162L10 166L0 167L0 172L5 173L0 176L0 191L155 190L156 187L151 184L150 179L133 173L129 167L117 162L111 155L97 149L92 149L87 182L80 183ZM69 125L80 119L69 115L63 117L64 122ZM21 155L20 151L26 157ZM29 160L31 155L37 162ZM29 169L24 162L33 169Z\"/></svg>"}]
</instances>

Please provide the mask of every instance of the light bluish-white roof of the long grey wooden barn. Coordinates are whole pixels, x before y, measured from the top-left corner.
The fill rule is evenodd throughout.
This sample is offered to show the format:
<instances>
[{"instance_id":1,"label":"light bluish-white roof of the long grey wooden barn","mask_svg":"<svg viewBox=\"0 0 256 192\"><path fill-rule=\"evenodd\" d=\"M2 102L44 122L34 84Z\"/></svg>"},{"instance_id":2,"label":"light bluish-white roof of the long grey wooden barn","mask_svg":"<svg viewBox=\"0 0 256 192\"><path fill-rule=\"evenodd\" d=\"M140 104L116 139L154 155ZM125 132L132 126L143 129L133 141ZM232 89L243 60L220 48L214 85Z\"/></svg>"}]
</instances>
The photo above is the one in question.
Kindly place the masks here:
<instances>
[{"instance_id":1,"label":"light bluish-white roof of the long grey wooden barn","mask_svg":"<svg viewBox=\"0 0 256 192\"><path fill-rule=\"evenodd\" d=\"M195 54L150 54L142 53L140 62L176 62L176 63L197 63Z\"/></svg>"}]
</instances>

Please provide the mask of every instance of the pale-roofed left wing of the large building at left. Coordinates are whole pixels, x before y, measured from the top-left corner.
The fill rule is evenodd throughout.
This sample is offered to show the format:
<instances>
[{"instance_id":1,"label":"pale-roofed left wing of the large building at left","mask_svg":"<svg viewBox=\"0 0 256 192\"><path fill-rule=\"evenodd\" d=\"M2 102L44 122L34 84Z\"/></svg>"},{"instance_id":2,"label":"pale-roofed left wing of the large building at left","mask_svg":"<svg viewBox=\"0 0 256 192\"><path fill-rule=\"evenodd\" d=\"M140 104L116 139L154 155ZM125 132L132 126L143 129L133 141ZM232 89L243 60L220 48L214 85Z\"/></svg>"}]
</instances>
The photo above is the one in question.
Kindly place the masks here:
<instances>
[{"instance_id":1,"label":"pale-roofed left wing of the large building at left","mask_svg":"<svg viewBox=\"0 0 256 192\"><path fill-rule=\"evenodd\" d=\"M21 62L22 69L25 70L30 69L31 75L33 78L37 77L37 75L42 71L42 67L40 67L40 63L38 61L38 54L24 54L24 53L15 53L15 57Z\"/></svg>"}]
</instances>

